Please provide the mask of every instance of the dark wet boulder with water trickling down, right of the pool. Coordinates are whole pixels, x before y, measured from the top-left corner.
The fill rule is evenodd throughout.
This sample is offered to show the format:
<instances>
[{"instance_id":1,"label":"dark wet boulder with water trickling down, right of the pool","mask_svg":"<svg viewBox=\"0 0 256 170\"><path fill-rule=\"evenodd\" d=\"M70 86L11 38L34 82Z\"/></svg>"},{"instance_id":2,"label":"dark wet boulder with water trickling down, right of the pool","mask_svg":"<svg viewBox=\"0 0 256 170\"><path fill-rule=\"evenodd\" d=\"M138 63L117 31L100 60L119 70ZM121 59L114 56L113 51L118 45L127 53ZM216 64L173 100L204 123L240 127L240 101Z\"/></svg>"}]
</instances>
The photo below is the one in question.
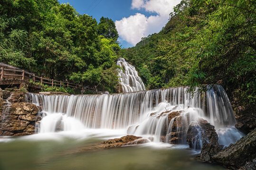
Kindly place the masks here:
<instances>
[{"instance_id":1,"label":"dark wet boulder with water trickling down, right of the pool","mask_svg":"<svg viewBox=\"0 0 256 170\"><path fill-rule=\"evenodd\" d=\"M187 131L187 142L190 148L200 149L201 147L198 157L204 162L212 162L212 157L221 150L214 126L201 118L197 122L191 122Z\"/></svg>"}]
</instances>

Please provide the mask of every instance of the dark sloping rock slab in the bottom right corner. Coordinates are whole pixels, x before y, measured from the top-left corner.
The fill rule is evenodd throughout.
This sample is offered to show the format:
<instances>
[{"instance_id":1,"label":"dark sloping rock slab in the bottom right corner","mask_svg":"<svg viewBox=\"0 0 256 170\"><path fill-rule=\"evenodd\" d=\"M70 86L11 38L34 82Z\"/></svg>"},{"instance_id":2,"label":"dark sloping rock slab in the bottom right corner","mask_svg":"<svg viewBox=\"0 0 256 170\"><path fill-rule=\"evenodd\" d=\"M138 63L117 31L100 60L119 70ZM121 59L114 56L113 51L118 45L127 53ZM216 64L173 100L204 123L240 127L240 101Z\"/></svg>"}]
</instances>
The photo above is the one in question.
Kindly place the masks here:
<instances>
[{"instance_id":1,"label":"dark sloping rock slab in the bottom right corner","mask_svg":"<svg viewBox=\"0 0 256 170\"><path fill-rule=\"evenodd\" d=\"M255 164L256 158L256 129L239 139L235 144L213 156L213 160L231 169L239 169L242 166ZM247 162L252 162L246 165Z\"/></svg>"}]
</instances>

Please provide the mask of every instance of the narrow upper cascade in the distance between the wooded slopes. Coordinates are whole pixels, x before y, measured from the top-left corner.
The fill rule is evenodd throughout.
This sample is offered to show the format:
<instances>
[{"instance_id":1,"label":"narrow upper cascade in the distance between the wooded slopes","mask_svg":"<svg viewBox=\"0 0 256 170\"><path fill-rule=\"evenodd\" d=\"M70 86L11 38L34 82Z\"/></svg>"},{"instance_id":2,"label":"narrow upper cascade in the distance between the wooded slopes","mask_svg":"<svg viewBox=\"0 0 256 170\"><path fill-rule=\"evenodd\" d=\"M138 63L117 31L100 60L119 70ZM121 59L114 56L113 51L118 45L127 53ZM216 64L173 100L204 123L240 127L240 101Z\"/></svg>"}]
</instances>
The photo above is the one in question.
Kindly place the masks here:
<instances>
[{"instance_id":1,"label":"narrow upper cascade in the distance between the wooded slopes","mask_svg":"<svg viewBox=\"0 0 256 170\"><path fill-rule=\"evenodd\" d=\"M123 92L136 92L146 90L141 77L135 67L129 64L125 59L118 58L116 64L123 68L120 69L119 81L122 85ZM124 71L124 72L123 72Z\"/></svg>"}]
</instances>

